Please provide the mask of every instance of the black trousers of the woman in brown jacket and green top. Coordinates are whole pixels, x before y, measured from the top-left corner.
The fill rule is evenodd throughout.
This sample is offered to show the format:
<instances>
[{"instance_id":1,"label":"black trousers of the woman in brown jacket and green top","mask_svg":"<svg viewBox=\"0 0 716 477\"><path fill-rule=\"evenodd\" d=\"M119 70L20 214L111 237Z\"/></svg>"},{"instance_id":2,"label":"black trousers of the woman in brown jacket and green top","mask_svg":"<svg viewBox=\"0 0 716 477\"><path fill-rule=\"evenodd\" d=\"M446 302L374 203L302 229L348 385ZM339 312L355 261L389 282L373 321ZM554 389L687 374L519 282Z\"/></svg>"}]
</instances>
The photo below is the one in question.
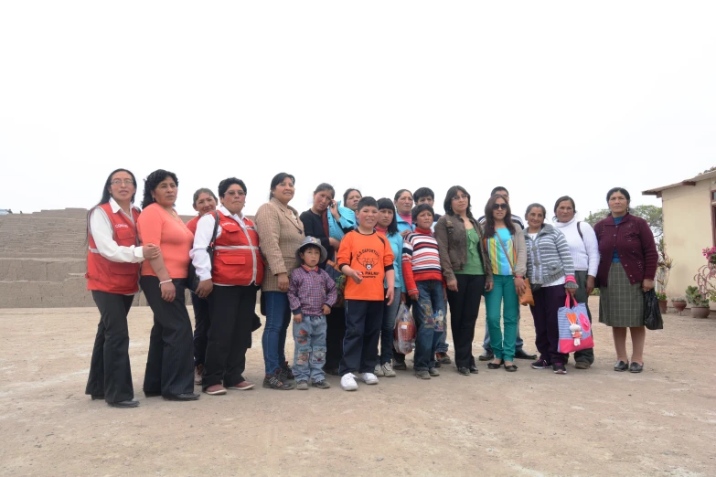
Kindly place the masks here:
<instances>
[{"instance_id":1,"label":"black trousers of the woman in brown jacket and green top","mask_svg":"<svg viewBox=\"0 0 716 477\"><path fill-rule=\"evenodd\" d=\"M485 275L456 274L457 292L447 291L450 304L450 330L453 332L455 366L475 364L473 339L475 323L480 312L480 300L485 292Z\"/></svg>"}]
</instances>

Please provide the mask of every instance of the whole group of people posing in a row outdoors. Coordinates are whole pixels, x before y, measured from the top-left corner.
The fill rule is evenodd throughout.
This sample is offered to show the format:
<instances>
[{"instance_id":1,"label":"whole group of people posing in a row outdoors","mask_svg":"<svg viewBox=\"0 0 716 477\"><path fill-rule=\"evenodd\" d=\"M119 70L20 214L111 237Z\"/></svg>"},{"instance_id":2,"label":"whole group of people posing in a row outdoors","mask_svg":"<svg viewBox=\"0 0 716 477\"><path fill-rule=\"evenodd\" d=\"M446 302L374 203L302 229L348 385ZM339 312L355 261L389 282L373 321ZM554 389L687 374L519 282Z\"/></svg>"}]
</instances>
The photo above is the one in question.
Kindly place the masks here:
<instances>
[{"instance_id":1,"label":"whole group of people posing in a row outdoors","mask_svg":"<svg viewBox=\"0 0 716 477\"><path fill-rule=\"evenodd\" d=\"M348 189L341 204L329 184L318 185L312 207L299 214L289 205L294 184L293 175L275 175L254 223L242 212L247 185L229 177L218 196L208 188L195 192L198 215L185 225L175 210L174 173L160 169L146 177L141 210L134 207L134 175L117 169L108 176L102 200L88 214L86 277L101 313L86 388L92 399L119 408L139 404L127 314L140 286L154 313L147 397L195 400L195 384L211 396L254 387L242 375L251 333L262 325L255 313L259 290L267 388L326 389L328 373L341 376L350 391L358 381L375 385L380 376L407 370L405 355L393 348L401 304L417 327L415 376L440 376L452 363L448 306L457 373L476 374L472 343L483 296L486 332L478 359L488 369L515 372L520 358L565 374L569 355L560 353L558 309L568 294L587 302L594 288L601 294L600 322L613 330L614 370L642 371L643 292L654 287L657 248L646 221L629 214L624 188L608 191L611 214L592 228L575 218L569 196L556 200L552 224L546 207L529 205L525 225L502 186L478 218L460 185L447 191L442 217L427 187L378 200ZM527 287L539 356L524 351L519 335L519 297ZM292 322L290 366L285 341ZM578 369L593 360L592 349L574 354Z\"/></svg>"}]
</instances>

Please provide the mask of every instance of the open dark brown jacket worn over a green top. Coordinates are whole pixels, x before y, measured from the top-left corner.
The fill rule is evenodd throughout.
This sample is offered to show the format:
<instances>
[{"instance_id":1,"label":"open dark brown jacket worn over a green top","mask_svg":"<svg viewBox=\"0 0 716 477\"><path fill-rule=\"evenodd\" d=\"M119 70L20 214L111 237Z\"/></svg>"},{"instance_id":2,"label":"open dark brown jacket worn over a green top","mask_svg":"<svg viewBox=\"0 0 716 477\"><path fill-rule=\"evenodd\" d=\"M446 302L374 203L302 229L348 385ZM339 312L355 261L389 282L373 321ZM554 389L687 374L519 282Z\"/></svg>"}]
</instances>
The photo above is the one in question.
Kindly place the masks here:
<instances>
[{"instance_id":1,"label":"open dark brown jacket worn over a green top","mask_svg":"<svg viewBox=\"0 0 716 477\"><path fill-rule=\"evenodd\" d=\"M493 281L492 264L482 245L485 231L476 219L473 218L470 221L477 232L477 244L480 248L486 281L491 282ZM463 218L447 214L440 217L435 224L435 238L437 238L438 249L440 249L440 266L443 268L443 277L445 281L452 281L455 279L454 270L463 270L467 262L467 233Z\"/></svg>"}]
</instances>

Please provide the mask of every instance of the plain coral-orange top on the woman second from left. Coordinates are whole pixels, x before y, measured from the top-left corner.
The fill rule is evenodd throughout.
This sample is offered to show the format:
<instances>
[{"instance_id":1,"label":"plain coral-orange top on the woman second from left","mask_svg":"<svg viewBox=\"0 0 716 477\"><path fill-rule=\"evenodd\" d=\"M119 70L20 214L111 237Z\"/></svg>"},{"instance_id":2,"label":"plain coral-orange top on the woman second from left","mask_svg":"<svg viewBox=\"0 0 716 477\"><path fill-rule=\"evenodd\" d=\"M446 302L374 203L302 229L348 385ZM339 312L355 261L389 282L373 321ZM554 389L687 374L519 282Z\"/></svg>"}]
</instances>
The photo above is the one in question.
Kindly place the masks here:
<instances>
[{"instance_id":1,"label":"plain coral-orange top on the woman second from left","mask_svg":"<svg viewBox=\"0 0 716 477\"><path fill-rule=\"evenodd\" d=\"M151 204L137 219L137 231L142 245L153 243L162 249L164 264L171 278L187 278L194 234L184 225L181 217L172 217L158 204ZM142 275L156 276L149 260L142 262Z\"/></svg>"}]
</instances>

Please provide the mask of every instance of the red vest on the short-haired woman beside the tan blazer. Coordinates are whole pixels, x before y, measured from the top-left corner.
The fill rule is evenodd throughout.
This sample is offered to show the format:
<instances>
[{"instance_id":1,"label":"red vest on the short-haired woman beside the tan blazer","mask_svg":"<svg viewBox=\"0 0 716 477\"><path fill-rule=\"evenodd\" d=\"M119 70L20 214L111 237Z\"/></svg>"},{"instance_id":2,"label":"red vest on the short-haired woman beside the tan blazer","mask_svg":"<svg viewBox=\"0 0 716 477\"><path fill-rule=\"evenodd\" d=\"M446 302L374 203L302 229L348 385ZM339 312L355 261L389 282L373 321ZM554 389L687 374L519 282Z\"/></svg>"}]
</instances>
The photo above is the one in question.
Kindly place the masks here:
<instances>
[{"instance_id":1,"label":"red vest on the short-haired woman beside the tan blazer","mask_svg":"<svg viewBox=\"0 0 716 477\"><path fill-rule=\"evenodd\" d=\"M214 267L211 280L222 285L261 285L263 260L259 251L259 234L250 219L242 228L232 217L219 210L221 235L214 244Z\"/></svg>"}]
</instances>

